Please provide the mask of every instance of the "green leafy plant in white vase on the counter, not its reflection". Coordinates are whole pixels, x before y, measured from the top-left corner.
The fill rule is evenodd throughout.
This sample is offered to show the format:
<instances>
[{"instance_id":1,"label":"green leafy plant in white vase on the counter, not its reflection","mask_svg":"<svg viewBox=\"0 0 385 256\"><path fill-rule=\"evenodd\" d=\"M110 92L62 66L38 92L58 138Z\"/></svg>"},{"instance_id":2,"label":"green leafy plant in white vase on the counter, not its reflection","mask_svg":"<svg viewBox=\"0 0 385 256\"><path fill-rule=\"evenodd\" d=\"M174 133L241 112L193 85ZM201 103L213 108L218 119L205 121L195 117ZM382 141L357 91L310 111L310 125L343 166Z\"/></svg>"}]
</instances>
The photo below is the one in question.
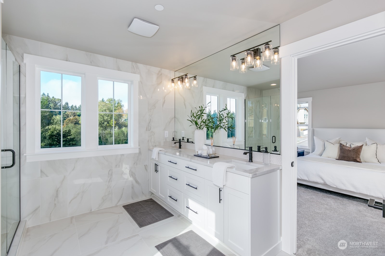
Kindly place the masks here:
<instances>
[{"instance_id":1,"label":"green leafy plant in white vase on the counter, not its reflection","mask_svg":"<svg viewBox=\"0 0 385 256\"><path fill-rule=\"evenodd\" d=\"M204 128L207 126L207 119L206 119L206 107L205 106L199 106L198 108L195 108L196 111L192 111L190 113L189 119L187 121L191 122L190 126L195 126L196 130L194 132L194 143L195 143L195 151L198 152L198 150L201 150L204 142L206 140L206 134L204 132Z\"/></svg>"}]
</instances>

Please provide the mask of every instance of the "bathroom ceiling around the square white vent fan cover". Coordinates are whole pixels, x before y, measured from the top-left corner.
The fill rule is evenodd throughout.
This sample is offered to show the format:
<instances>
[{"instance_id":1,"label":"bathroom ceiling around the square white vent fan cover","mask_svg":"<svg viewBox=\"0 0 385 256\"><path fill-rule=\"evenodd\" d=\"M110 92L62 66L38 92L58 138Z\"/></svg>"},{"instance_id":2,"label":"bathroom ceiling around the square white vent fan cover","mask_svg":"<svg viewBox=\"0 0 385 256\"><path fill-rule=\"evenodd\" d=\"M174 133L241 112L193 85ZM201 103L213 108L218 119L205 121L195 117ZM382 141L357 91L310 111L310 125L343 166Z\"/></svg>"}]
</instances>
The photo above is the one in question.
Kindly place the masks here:
<instances>
[{"instance_id":1,"label":"bathroom ceiling around the square white vent fan cover","mask_svg":"<svg viewBox=\"0 0 385 256\"><path fill-rule=\"evenodd\" d=\"M2 30L177 70L327 2L330 0L6 0ZM156 11L156 4L164 10ZM250 13L248 17L246 13ZM160 28L151 38L132 34L127 27L134 18Z\"/></svg>"}]
</instances>

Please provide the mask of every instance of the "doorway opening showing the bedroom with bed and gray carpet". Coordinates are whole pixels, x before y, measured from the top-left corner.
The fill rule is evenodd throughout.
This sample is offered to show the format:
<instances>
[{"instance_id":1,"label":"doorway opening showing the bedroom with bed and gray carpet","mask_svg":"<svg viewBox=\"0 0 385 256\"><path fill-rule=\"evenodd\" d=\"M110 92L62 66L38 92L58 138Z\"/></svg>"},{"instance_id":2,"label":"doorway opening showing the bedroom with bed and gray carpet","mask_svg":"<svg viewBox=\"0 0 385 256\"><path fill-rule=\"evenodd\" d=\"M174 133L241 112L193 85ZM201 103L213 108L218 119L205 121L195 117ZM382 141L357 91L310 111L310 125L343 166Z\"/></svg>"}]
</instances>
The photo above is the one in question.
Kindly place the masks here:
<instances>
[{"instance_id":1,"label":"doorway opening showing the bedroom with bed and gray carpet","mask_svg":"<svg viewBox=\"0 0 385 256\"><path fill-rule=\"evenodd\" d=\"M297 60L297 256L385 251L384 45L380 35Z\"/></svg>"}]
</instances>

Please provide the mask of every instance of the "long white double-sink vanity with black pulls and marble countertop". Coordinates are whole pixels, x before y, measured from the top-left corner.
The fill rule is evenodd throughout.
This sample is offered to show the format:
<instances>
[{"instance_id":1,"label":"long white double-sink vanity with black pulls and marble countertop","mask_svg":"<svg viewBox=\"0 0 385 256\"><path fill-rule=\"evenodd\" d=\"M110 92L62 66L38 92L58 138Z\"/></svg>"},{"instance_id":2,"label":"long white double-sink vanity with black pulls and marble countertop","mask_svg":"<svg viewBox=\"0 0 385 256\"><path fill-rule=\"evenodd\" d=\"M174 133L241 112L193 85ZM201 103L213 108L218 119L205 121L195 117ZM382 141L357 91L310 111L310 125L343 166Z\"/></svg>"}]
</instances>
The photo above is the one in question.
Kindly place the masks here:
<instances>
[{"instance_id":1,"label":"long white double-sink vanity with black pulls and marble countertop","mask_svg":"<svg viewBox=\"0 0 385 256\"><path fill-rule=\"evenodd\" d=\"M190 149L166 148L159 151L157 161L150 158L150 191L240 256L279 253L281 167L194 154ZM235 165L227 168L223 188L212 181L215 162Z\"/></svg>"}]
</instances>

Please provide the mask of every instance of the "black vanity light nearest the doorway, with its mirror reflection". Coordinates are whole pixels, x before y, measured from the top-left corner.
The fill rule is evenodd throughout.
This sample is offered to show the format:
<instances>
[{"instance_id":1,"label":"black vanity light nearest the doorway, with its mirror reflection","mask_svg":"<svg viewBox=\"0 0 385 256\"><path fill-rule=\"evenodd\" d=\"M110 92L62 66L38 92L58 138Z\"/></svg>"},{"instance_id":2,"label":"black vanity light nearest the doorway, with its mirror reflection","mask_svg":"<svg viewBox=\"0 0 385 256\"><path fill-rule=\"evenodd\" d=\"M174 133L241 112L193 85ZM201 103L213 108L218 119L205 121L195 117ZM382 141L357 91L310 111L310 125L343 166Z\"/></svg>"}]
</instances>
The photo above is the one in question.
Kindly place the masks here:
<instances>
[{"instance_id":1,"label":"black vanity light nearest the doorway, with its mirror reflection","mask_svg":"<svg viewBox=\"0 0 385 256\"><path fill-rule=\"evenodd\" d=\"M280 46L273 48L270 43L271 40L230 55L230 70L234 71L239 69L239 73L246 73L247 67L254 65L254 67L249 68L251 71L264 71L269 69L269 67L264 66L262 63L263 61L269 60L271 60L271 64L273 65L280 64L280 50L278 49ZM263 51L259 46L263 46ZM236 55L240 53L244 53L245 57L238 62L238 57Z\"/></svg>"}]
</instances>

